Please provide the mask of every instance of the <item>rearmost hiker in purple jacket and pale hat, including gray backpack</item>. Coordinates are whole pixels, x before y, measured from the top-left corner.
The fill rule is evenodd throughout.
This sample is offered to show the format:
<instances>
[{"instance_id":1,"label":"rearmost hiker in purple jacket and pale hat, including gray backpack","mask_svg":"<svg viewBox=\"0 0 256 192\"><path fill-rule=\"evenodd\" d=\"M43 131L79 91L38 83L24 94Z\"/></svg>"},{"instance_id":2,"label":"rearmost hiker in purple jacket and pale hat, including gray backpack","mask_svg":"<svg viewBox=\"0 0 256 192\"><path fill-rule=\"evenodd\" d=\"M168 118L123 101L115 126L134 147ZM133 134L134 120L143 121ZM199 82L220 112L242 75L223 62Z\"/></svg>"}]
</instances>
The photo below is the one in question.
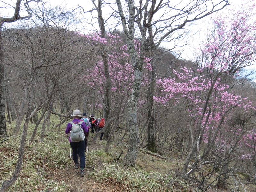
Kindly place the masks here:
<instances>
[{"instance_id":1,"label":"rearmost hiker in purple jacket and pale hat, including gray backpack","mask_svg":"<svg viewBox=\"0 0 256 192\"><path fill-rule=\"evenodd\" d=\"M85 168L85 143L84 143L84 133L88 133L88 127L86 126L86 124L84 123L84 121L81 119L83 116L81 115L81 112L76 109L73 112L73 115L71 115L74 119L73 121L70 121L67 124L67 128L65 133L69 134L69 143L70 146L72 148L72 157L73 157L73 161L75 163L75 169L78 169L78 167L80 166L80 176L84 177L84 168ZM76 125L76 126L74 126ZM77 129L76 129L77 128ZM82 132L82 134L80 134L81 132L79 132L79 134L75 135L76 133L74 133L74 130L80 130ZM71 131L72 130L72 131ZM74 138L76 140L79 141L74 141ZM77 139L79 138L79 139ZM79 153L79 157L80 157L80 165L79 165L79 161L78 161L78 153Z\"/></svg>"}]
</instances>

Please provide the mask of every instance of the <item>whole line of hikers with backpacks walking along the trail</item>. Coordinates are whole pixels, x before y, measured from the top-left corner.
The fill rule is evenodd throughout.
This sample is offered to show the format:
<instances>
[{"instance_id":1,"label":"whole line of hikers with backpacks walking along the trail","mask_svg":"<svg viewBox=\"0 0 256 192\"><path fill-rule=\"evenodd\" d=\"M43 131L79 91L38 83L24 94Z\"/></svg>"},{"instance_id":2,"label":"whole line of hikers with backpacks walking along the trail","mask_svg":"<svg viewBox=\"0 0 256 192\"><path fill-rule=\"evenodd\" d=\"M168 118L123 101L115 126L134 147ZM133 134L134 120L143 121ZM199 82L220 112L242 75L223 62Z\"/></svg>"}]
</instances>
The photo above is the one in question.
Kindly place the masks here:
<instances>
[{"instance_id":1,"label":"whole line of hikers with backpacks walking along the trail","mask_svg":"<svg viewBox=\"0 0 256 192\"><path fill-rule=\"evenodd\" d=\"M65 133L69 134L69 143L72 148L72 157L75 163L75 169L80 167L80 176L84 177L85 168L85 150L87 148L87 142L89 137L89 130L91 128L92 133L96 133L105 125L105 119L96 117L93 115L86 118L86 113L81 115L81 111L76 109L73 111L73 121L67 124ZM100 140L102 140L104 132L100 134ZM80 157L80 164L78 161L78 155Z\"/></svg>"}]
</instances>

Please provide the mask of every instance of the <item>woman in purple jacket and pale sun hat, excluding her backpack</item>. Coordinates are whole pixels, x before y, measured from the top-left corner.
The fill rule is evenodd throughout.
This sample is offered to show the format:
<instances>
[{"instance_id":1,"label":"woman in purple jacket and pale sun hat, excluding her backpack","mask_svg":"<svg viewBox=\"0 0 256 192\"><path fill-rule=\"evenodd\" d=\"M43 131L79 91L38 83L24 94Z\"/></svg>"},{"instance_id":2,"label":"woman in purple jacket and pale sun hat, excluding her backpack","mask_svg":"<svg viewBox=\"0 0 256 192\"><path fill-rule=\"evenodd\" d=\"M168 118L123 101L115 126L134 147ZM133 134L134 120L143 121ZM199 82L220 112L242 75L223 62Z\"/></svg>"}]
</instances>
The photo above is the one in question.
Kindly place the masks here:
<instances>
[{"instance_id":1,"label":"woman in purple jacket and pale sun hat, excluding her backpack","mask_svg":"<svg viewBox=\"0 0 256 192\"><path fill-rule=\"evenodd\" d=\"M73 122L80 122L83 121L81 118L83 117L81 115L81 112L76 109L73 112L73 115L71 115L72 117L74 117ZM84 133L88 133L88 127L86 126L86 124L83 123L81 124L82 129L84 130ZM72 124L69 122L66 128L65 133L69 134L72 128ZM78 161L78 154L80 157L80 175L81 177L84 177L84 168L85 168L85 143L84 140L83 141L79 141L79 142L71 142L70 136L69 136L69 143L70 146L72 148L72 157L73 157L73 161L75 163L75 169L78 169L79 167L79 161Z\"/></svg>"}]
</instances>

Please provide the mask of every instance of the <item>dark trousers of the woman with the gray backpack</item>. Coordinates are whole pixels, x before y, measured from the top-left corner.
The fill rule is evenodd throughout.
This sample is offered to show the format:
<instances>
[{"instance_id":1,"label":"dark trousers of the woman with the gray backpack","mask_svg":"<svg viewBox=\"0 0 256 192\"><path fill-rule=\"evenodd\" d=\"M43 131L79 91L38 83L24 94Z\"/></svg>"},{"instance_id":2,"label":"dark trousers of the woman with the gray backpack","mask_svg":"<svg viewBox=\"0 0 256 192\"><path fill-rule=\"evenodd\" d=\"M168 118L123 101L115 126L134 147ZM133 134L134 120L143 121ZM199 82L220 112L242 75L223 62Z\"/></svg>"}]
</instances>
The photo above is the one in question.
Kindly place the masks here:
<instances>
[{"instance_id":1,"label":"dark trousers of the woman with the gray backpack","mask_svg":"<svg viewBox=\"0 0 256 192\"><path fill-rule=\"evenodd\" d=\"M75 164L78 163L78 153L80 157L80 168L85 168L85 142L79 141L79 142L69 142L70 146L72 148L72 157Z\"/></svg>"}]
</instances>

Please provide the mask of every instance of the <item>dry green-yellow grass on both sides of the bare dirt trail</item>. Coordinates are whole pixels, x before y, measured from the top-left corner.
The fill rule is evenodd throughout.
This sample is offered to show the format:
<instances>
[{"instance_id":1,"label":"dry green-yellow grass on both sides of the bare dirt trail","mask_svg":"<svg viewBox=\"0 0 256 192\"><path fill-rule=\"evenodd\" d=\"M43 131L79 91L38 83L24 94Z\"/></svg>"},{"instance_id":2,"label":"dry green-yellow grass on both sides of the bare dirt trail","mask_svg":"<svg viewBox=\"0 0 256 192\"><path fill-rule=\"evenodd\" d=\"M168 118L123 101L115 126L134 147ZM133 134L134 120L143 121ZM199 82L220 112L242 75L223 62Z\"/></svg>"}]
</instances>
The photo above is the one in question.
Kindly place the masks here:
<instances>
[{"instance_id":1,"label":"dry green-yellow grass on both sides of the bare dirt trail","mask_svg":"<svg viewBox=\"0 0 256 192\"><path fill-rule=\"evenodd\" d=\"M58 119L55 121L57 122ZM61 127L60 132L57 128L47 132L44 142L39 142L39 132L35 141L26 142L20 176L8 191L69 191L70 183L67 183L69 181L57 180L54 175L61 170L65 172L73 165L69 157L70 145L64 133L65 126L66 124ZM27 140L30 139L33 128L34 125L30 124ZM9 134L12 132L10 125L7 131ZM21 131L18 135L21 135ZM10 179L15 170L19 143L19 136L10 136L9 140L0 145L1 182ZM91 150L86 156L86 165L94 167L95 170L90 170L87 181L93 178L101 185L115 183L116 188L119 187L123 191L124 189L125 191L200 191L196 184L177 177L183 161L174 156L167 156L164 160L139 150L135 167L129 169L123 167L121 163L127 152L127 144L127 140L112 142L108 153L103 150L105 141L97 141L96 145L91 145ZM116 161L121 149L123 150L121 159ZM234 187L230 185L230 189L232 188ZM254 191L255 186L248 185L246 188L248 192ZM225 190L211 188L208 191Z\"/></svg>"}]
</instances>

